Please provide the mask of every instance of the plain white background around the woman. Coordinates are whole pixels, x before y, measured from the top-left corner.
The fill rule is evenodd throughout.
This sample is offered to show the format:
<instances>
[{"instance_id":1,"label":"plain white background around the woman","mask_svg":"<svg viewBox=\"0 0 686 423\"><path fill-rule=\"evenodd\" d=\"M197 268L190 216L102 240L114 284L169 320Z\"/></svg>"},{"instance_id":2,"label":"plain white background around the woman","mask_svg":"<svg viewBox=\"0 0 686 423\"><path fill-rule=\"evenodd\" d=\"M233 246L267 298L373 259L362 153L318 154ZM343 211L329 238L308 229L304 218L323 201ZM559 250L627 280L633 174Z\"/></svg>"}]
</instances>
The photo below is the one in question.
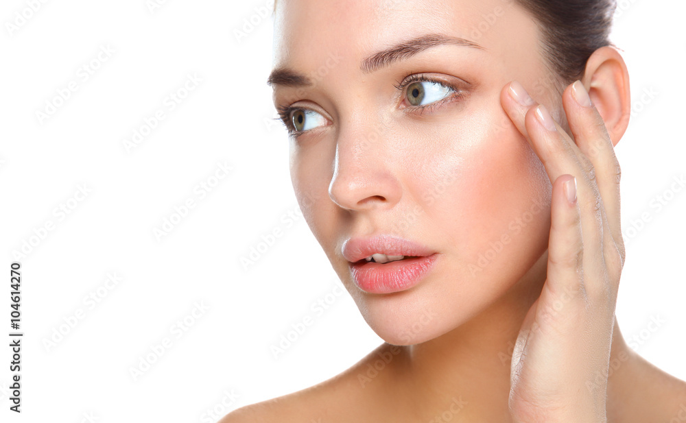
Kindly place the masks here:
<instances>
[{"instance_id":1,"label":"plain white background around the woman","mask_svg":"<svg viewBox=\"0 0 686 423\"><path fill-rule=\"evenodd\" d=\"M642 213L650 222L625 232L632 237L617 319L626 338L642 334L641 355L686 379L686 193L659 213L650 206L686 175L686 3L619 3L613 40L624 50L634 106L617 147L622 220L625 231ZM272 19L257 12L265 5L170 0L151 12L145 0L48 1L10 31L28 6L3 1L3 339L12 254L35 244L21 259L23 413L9 411L3 341L3 422L76 423L91 414L99 422L213 422L213 408L223 415L309 387L381 343L348 294L334 295L340 282L298 214L288 141L270 120ZM257 25L237 40L251 18ZM101 54L107 60L96 60L85 80L82 66L107 47L113 53ZM188 75L202 82L169 110L165 99ZM72 81L78 90L39 121L36 111ZM123 140L158 110L165 119L127 152ZM233 170L215 181L219 163ZM201 182L217 184L200 198ZM73 200L84 185L91 192ZM189 198L196 206L158 241L154 229ZM61 215L60 204L74 208ZM283 236L244 269L241 256L274 228ZM108 274L121 281L108 285ZM91 293L104 296L84 302ZM319 299L333 300L321 315L311 308ZM200 303L206 310L194 311ZM78 311L75 327L62 326ZM270 346L307 315L314 324L275 358ZM664 323L650 332L652 318ZM134 379L131 368L165 337L171 346Z\"/></svg>"}]
</instances>

